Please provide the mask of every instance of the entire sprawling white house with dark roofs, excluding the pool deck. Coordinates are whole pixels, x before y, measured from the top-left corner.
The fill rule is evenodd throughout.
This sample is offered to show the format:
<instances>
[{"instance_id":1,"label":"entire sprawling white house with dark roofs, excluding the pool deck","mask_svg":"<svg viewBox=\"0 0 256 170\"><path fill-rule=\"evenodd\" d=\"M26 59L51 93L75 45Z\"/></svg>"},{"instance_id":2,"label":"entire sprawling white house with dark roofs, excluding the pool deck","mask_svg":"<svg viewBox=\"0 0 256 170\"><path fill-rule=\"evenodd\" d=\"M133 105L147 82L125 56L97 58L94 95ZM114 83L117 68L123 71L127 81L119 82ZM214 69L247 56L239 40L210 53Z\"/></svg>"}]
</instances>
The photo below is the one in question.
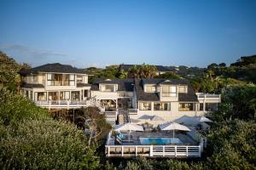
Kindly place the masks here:
<instances>
[{"instance_id":1,"label":"entire sprawling white house with dark roofs, excluding the pool deck","mask_svg":"<svg viewBox=\"0 0 256 170\"><path fill-rule=\"evenodd\" d=\"M202 116L218 109L220 95L195 94L185 79L96 79L71 65L59 63L32 68L22 93L48 109L78 109L93 101L108 122L160 124L181 116ZM149 117L160 116L156 120Z\"/></svg>"}]
</instances>

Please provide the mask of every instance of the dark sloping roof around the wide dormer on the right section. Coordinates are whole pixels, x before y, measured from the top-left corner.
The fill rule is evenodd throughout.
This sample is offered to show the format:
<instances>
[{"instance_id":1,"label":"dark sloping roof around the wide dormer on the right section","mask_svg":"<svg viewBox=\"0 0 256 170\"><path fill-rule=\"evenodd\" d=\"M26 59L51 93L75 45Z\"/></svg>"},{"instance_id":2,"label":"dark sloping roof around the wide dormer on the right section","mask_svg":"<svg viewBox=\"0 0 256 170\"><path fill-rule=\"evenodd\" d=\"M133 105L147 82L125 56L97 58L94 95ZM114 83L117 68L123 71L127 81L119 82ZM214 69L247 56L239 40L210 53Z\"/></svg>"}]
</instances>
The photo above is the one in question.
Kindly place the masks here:
<instances>
[{"instance_id":1,"label":"dark sloping roof around the wide dormer on the right section","mask_svg":"<svg viewBox=\"0 0 256 170\"><path fill-rule=\"evenodd\" d=\"M135 88L137 92L137 100L143 101L160 101L160 96L158 93L145 93L143 90L143 84L175 84L175 85L187 85L188 86L188 93L187 94L178 94L178 101L184 102L198 102L197 96L194 92L189 81L185 79L170 79L166 81L166 79L136 79L135 80Z\"/></svg>"}]
</instances>

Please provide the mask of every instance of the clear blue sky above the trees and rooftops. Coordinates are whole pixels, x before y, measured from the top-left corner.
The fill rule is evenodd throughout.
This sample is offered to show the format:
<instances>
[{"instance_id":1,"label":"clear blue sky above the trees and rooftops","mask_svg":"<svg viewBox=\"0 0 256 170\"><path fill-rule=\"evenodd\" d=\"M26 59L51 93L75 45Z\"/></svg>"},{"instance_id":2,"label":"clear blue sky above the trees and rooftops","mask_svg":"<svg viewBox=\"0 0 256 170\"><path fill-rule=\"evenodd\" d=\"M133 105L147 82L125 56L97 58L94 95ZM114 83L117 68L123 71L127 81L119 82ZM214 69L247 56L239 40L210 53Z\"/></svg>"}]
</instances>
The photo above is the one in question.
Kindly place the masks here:
<instances>
[{"instance_id":1,"label":"clear blue sky above the trees and rooftops","mask_svg":"<svg viewBox=\"0 0 256 170\"><path fill-rule=\"evenodd\" d=\"M207 66L256 54L256 1L0 0L0 50L32 66Z\"/></svg>"}]
</instances>

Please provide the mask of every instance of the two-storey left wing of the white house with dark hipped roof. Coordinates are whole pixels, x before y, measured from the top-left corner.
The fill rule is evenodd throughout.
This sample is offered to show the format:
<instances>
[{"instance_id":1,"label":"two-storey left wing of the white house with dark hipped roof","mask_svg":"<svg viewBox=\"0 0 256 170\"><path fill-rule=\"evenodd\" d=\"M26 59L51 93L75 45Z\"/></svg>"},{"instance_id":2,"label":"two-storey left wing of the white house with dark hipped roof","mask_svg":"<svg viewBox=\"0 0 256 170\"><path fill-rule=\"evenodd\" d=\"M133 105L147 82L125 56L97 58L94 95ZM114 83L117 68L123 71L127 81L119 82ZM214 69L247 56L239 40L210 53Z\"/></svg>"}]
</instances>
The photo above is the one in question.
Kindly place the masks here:
<instances>
[{"instance_id":1,"label":"two-storey left wing of the white house with dark hipped roof","mask_svg":"<svg viewBox=\"0 0 256 170\"><path fill-rule=\"evenodd\" d=\"M46 64L23 77L22 93L49 109L79 108L90 98L88 75L71 65Z\"/></svg>"}]
</instances>

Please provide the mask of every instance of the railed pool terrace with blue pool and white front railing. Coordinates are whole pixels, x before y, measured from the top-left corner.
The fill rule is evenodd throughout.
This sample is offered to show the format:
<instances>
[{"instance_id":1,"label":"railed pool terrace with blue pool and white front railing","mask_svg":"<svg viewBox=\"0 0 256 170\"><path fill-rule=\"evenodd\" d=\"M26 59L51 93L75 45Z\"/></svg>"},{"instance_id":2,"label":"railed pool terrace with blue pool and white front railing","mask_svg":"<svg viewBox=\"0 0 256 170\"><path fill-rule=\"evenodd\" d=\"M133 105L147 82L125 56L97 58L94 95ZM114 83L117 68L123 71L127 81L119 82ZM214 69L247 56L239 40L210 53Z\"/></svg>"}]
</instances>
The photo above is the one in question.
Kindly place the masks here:
<instances>
[{"instance_id":1,"label":"railed pool terrace with blue pool and white front railing","mask_svg":"<svg viewBox=\"0 0 256 170\"><path fill-rule=\"evenodd\" d=\"M105 145L106 156L111 157L173 157L188 158L201 157L204 139L195 130L189 132L176 132L175 137L171 131L160 132L131 132L123 133L119 138L116 133L108 134ZM130 136L130 137L129 137Z\"/></svg>"}]
</instances>

